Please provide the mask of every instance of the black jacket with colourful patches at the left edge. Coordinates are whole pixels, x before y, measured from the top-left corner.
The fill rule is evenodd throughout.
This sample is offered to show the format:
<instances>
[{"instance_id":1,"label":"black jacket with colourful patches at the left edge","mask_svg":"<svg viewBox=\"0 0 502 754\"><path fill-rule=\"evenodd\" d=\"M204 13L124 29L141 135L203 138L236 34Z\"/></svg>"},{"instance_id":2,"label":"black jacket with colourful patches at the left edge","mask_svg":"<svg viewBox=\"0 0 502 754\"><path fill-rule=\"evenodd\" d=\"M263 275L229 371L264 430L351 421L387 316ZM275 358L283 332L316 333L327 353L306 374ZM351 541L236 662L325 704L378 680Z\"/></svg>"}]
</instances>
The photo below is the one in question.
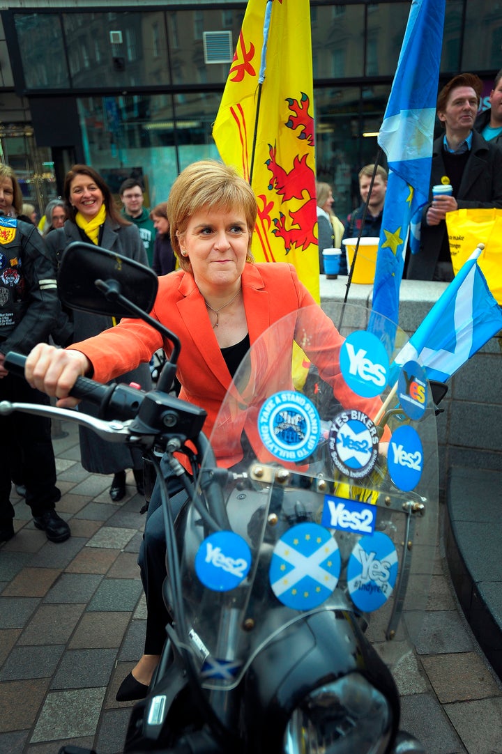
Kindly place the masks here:
<instances>
[{"instance_id":1,"label":"black jacket with colourful patches at the left edge","mask_svg":"<svg viewBox=\"0 0 502 754\"><path fill-rule=\"evenodd\" d=\"M28 354L60 311L54 258L35 225L0 217L0 350Z\"/></svg>"}]
</instances>

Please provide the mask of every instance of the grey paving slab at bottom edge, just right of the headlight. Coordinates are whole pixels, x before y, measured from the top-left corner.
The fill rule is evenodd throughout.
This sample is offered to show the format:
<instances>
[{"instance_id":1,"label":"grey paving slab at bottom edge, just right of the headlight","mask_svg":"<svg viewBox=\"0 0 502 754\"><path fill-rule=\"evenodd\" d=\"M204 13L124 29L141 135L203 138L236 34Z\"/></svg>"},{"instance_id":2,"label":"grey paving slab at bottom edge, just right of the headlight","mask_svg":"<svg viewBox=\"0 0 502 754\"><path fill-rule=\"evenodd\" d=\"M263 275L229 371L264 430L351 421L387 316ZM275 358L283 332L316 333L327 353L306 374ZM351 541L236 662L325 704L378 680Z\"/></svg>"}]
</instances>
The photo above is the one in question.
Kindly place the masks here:
<instances>
[{"instance_id":1,"label":"grey paving slab at bottom edge, just right of the headlight","mask_svg":"<svg viewBox=\"0 0 502 754\"><path fill-rule=\"evenodd\" d=\"M402 697L399 727L416 737L427 754L465 754L467 751L431 694Z\"/></svg>"}]
</instances>

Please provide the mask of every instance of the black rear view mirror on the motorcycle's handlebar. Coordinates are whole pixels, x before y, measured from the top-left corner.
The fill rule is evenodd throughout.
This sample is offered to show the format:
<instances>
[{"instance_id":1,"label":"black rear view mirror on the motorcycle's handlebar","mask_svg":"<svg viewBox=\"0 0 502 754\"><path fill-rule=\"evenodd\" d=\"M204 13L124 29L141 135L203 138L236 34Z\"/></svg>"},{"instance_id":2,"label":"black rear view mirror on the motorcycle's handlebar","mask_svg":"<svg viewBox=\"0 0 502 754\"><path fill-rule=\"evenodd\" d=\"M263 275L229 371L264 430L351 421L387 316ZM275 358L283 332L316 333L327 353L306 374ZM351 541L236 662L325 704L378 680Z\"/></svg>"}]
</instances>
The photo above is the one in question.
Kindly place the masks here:
<instances>
[{"instance_id":1,"label":"black rear view mirror on the motorcycle's handlebar","mask_svg":"<svg viewBox=\"0 0 502 754\"><path fill-rule=\"evenodd\" d=\"M149 267L94 244L74 241L64 250L57 272L57 288L64 305L109 317L131 317L131 310L106 299L97 280L115 282L115 289L148 313L155 302L159 280Z\"/></svg>"}]
</instances>

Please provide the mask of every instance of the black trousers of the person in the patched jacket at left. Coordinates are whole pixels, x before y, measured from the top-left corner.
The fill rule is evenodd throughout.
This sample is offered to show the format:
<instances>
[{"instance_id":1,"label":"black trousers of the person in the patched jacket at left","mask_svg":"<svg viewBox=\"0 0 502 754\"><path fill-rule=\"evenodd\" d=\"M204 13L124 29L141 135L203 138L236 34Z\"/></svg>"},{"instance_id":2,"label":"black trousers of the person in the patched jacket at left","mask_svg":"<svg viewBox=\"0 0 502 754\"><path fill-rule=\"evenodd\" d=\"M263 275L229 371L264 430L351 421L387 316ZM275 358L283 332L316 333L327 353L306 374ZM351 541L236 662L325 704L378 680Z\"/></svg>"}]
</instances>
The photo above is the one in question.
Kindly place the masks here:
<instances>
[{"instance_id":1,"label":"black trousers of the person in the patched jacket at left","mask_svg":"<svg viewBox=\"0 0 502 754\"><path fill-rule=\"evenodd\" d=\"M20 377L8 374L0 379L0 401L13 403L38 403L48 406L48 396L30 388ZM33 516L54 509L61 493L56 486L56 463L51 440L51 420L16 411L0 416L0 522L14 518L11 494L11 461L15 456L15 468L20 470L26 486L26 503Z\"/></svg>"}]
</instances>

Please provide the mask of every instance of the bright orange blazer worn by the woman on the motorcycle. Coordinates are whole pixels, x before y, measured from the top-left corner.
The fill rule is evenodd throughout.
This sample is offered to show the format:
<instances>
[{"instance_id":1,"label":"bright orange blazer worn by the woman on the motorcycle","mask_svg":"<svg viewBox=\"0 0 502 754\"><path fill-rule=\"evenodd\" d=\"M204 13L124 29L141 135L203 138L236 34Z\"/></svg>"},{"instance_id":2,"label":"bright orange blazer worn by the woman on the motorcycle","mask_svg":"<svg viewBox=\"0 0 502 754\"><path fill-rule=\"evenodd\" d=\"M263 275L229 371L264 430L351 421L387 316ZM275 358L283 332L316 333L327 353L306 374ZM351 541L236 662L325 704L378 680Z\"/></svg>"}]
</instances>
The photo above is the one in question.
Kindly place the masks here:
<instances>
[{"instance_id":1,"label":"bright orange blazer worn by the woman on the motorcycle","mask_svg":"<svg viewBox=\"0 0 502 754\"><path fill-rule=\"evenodd\" d=\"M260 360L254 382L244 385L233 402L226 403L226 413L218 420L231 377L192 274L177 270L159 277L159 292L150 312L180 339L177 363L177 377L182 385L180 399L202 406L208 412L204 430L209 437L216 422L223 430L218 432L214 446L220 465L229 467L242 458L240 440L244 429L258 458L263 462L274 460L267 452L263 453L257 434L257 410L265 397L294 389L291 377L294 341L316 364L322 379L332 385L344 408L357 408L371 418L376 415L380 400L356 395L343 380L339 366L343 338L300 282L293 265L246 263L242 273L242 298L251 345L264 333L257 354L266 357ZM287 314L292 316L285 320L279 338L274 331L266 333L271 324ZM98 382L107 382L141 362L148 362L159 348L164 348L166 354L172 351L171 344L160 333L137 319L122 319L118 326L75 343L71 348L82 351L91 360L94 379Z\"/></svg>"}]
</instances>

